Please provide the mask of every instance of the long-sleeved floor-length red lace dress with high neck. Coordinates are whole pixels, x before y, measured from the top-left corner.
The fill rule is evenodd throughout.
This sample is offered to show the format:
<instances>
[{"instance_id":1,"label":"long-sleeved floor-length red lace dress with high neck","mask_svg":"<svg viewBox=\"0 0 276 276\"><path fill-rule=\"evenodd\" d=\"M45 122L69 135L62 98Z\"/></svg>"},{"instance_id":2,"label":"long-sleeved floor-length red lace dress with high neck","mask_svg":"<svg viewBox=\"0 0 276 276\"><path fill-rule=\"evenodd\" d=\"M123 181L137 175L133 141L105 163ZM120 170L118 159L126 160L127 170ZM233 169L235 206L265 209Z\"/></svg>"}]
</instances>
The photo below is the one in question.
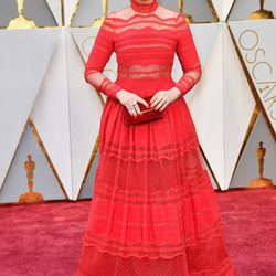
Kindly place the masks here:
<instances>
[{"instance_id":1,"label":"long-sleeved floor-length red lace dress with high neck","mask_svg":"<svg viewBox=\"0 0 276 276\"><path fill-rule=\"evenodd\" d=\"M113 51L115 82L103 74ZM171 77L174 52L183 68L177 83ZM77 275L234 275L215 193L182 97L201 74L181 13L157 0L131 0L105 19L85 70L86 82L108 97ZM173 86L182 96L164 108L162 119L125 125L125 107L115 97L119 89L146 97Z\"/></svg>"}]
</instances>

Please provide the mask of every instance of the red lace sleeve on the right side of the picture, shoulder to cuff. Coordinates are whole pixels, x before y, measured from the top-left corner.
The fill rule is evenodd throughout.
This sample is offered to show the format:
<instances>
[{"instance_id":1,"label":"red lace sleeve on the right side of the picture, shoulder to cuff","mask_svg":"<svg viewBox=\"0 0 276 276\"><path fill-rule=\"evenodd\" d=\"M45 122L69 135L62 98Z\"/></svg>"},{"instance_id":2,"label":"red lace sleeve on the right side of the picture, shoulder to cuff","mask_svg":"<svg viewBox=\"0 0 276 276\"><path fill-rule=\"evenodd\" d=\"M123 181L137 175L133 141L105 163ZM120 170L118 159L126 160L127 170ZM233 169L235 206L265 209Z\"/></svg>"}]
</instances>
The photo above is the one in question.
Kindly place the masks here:
<instances>
[{"instance_id":1,"label":"red lace sleeve on the right side of the picture, shoulder to cuff","mask_svg":"<svg viewBox=\"0 0 276 276\"><path fill-rule=\"evenodd\" d=\"M176 52L181 63L183 75L174 86L180 89L183 96L200 81L202 71L189 23L182 13L178 13L176 21Z\"/></svg>"}]
</instances>

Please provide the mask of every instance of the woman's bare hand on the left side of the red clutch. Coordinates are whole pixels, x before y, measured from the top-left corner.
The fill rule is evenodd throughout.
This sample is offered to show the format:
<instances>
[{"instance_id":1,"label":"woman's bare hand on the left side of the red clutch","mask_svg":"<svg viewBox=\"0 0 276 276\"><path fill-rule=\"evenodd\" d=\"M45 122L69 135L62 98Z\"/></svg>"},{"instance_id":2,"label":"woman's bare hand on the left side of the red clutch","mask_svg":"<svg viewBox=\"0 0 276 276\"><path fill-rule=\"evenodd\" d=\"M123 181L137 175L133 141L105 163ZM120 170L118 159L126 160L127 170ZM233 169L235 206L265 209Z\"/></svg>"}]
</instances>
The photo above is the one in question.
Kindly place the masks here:
<instances>
[{"instance_id":1,"label":"woman's bare hand on the left side of the red clutch","mask_svg":"<svg viewBox=\"0 0 276 276\"><path fill-rule=\"evenodd\" d=\"M146 107L149 107L148 103L144 98L125 89L118 91L116 93L116 98L120 102L121 105L124 105L128 109L129 114L135 117L137 115L141 115L141 110L137 103L141 103Z\"/></svg>"}]
</instances>

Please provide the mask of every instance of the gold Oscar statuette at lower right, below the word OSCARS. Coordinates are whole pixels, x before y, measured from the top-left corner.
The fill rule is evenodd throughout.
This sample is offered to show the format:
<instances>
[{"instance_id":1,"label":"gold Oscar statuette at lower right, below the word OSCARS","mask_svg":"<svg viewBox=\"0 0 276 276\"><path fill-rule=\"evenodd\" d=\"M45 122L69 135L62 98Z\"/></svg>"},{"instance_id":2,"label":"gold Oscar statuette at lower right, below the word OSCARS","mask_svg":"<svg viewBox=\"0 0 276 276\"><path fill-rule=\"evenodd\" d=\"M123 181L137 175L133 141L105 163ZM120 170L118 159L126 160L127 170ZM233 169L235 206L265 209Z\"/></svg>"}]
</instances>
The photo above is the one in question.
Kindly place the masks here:
<instances>
[{"instance_id":1,"label":"gold Oscar statuette at lower right, below the word OSCARS","mask_svg":"<svg viewBox=\"0 0 276 276\"><path fill-rule=\"evenodd\" d=\"M258 188L258 187L272 187L273 181L268 178L264 178L264 161L265 161L265 152L266 149L263 147L263 141L259 142L259 147L257 148L257 159L258 159L258 178L251 181L250 188Z\"/></svg>"}]
</instances>

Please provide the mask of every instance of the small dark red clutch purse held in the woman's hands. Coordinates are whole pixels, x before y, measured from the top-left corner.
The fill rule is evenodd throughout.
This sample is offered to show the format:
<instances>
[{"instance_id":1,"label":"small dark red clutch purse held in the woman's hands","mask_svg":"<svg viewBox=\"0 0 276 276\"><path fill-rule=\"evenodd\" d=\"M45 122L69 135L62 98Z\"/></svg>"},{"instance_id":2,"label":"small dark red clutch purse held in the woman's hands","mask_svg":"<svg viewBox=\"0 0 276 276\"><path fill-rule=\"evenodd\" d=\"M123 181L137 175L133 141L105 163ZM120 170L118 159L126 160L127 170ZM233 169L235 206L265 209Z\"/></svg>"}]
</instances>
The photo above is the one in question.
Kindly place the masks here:
<instances>
[{"instance_id":1,"label":"small dark red clutch purse held in the woman's hands","mask_svg":"<svg viewBox=\"0 0 276 276\"><path fill-rule=\"evenodd\" d=\"M144 99L149 104L150 99L152 96L145 97ZM128 109L125 107L124 109L124 118L125 123L127 125L132 125L132 124L140 124L145 121L150 121L150 120L156 120L160 119L163 117L163 112L162 110L156 110L150 107L146 107L141 103L137 103L139 105L139 108L141 110L141 115L137 115L136 117L130 115Z\"/></svg>"}]
</instances>

